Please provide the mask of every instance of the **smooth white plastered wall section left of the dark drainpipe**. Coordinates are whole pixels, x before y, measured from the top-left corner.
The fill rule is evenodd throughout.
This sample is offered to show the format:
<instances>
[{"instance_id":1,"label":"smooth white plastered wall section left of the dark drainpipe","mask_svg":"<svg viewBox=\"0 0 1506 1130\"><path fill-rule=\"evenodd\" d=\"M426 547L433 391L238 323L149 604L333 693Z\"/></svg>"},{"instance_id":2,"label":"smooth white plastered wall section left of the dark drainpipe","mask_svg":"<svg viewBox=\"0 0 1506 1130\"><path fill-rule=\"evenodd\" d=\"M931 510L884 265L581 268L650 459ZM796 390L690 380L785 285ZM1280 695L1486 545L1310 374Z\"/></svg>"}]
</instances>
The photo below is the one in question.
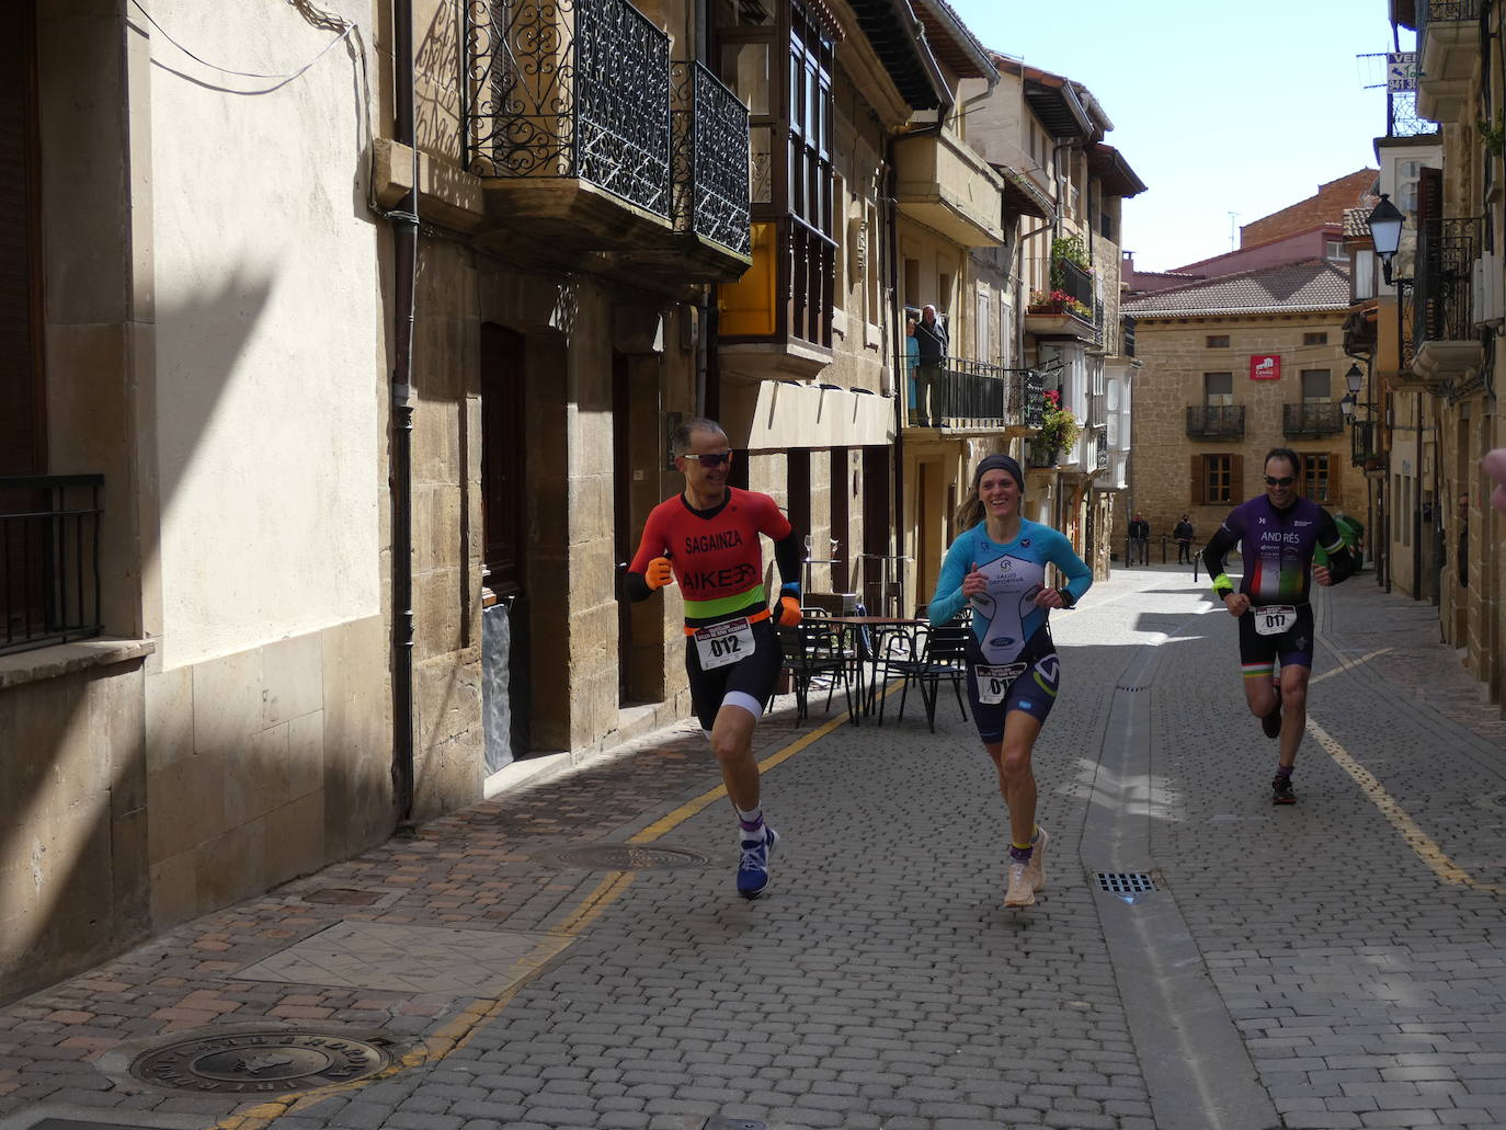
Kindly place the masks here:
<instances>
[{"instance_id":1,"label":"smooth white plastered wall section left of the dark drainpipe","mask_svg":"<svg viewBox=\"0 0 1506 1130\"><path fill-rule=\"evenodd\" d=\"M346 45L270 89L229 71L294 72L336 33L289 5L151 12L160 630L175 667L380 612L383 327Z\"/></svg>"}]
</instances>

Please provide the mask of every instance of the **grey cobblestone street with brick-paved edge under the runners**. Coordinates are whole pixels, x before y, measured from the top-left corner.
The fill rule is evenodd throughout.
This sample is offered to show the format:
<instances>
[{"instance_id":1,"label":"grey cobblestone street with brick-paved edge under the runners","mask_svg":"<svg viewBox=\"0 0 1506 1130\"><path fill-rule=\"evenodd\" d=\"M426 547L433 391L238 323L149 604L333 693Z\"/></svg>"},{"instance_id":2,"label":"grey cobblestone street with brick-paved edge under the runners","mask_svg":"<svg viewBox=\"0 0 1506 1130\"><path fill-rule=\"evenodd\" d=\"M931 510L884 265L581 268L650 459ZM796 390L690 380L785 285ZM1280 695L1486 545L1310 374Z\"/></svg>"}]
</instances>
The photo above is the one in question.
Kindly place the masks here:
<instances>
[{"instance_id":1,"label":"grey cobblestone street with brick-paved edge under the runners","mask_svg":"<svg viewBox=\"0 0 1506 1130\"><path fill-rule=\"evenodd\" d=\"M935 734L914 699L880 728L785 698L767 898L733 892L699 731L660 734L0 1009L0 1130L1506 1125L1506 725L1372 573L1318 625L1301 800L1273 808L1235 624L1188 570L1059 613L1027 912L946 689ZM590 844L711 862L547 856ZM288 1094L130 1076L268 1028L392 1062Z\"/></svg>"}]
</instances>

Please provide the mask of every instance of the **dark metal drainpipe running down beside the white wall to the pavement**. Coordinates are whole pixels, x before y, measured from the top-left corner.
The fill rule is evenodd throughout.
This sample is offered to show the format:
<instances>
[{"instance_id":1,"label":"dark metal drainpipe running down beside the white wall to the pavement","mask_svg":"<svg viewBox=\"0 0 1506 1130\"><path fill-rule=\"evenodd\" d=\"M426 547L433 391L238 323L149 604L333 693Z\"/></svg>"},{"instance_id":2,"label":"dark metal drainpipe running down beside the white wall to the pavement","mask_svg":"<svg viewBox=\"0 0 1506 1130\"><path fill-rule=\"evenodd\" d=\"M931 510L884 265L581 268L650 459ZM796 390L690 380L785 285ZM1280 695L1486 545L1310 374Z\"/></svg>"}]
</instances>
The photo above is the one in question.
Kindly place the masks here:
<instances>
[{"instance_id":1,"label":"dark metal drainpipe running down beside the white wall to the pavement","mask_svg":"<svg viewBox=\"0 0 1506 1130\"><path fill-rule=\"evenodd\" d=\"M414 128L413 0L393 3L395 133L413 152L408 194L392 220L392 779L398 829L413 826L413 321L419 273L419 149Z\"/></svg>"}]
</instances>

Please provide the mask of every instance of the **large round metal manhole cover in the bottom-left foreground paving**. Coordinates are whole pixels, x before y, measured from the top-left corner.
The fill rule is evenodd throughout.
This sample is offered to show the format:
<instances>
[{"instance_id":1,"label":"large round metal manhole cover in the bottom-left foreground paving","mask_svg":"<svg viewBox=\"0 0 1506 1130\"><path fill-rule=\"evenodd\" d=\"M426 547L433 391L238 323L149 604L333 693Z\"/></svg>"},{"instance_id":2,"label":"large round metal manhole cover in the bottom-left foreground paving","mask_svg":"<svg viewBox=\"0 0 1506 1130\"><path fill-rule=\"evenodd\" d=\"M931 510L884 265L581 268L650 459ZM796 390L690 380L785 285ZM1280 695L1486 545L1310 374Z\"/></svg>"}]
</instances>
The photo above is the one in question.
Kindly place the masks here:
<instances>
[{"instance_id":1,"label":"large round metal manhole cover in the bottom-left foreground paving","mask_svg":"<svg viewBox=\"0 0 1506 1130\"><path fill-rule=\"evenodd\" d=\"M184 1040L131 1062L143 1083L218 1094L282 1094L381 1071L387 1053L373 1044L318 1032L247 1032Z\"/></svg>"}]
</instances>

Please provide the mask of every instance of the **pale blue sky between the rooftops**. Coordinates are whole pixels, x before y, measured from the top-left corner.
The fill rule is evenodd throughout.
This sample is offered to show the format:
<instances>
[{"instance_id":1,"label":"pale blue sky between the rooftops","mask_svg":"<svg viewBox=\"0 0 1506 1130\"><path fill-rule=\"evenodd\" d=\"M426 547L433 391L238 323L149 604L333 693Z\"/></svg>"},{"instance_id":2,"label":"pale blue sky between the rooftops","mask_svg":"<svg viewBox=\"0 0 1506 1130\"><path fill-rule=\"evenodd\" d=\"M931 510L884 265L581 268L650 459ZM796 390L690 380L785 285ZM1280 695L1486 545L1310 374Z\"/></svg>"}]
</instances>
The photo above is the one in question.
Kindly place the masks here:
<instances>
[{"instance_id":1,"label":"pale blue sky between the rooftops","mask_svg":"<svg viewBox=\"0 0 1506 1130\"><path fill-rule=\"evenodd\" d=\"M983 47L1083 83L1149 190L1125 202L1140 270L1229 250L1230 226L1375 167L1386 0L950 0ZM1410 32L1402 32L1410 50ZM1238 212L1230 217L1229 212Z\"/></svg>"}]
</instances>

